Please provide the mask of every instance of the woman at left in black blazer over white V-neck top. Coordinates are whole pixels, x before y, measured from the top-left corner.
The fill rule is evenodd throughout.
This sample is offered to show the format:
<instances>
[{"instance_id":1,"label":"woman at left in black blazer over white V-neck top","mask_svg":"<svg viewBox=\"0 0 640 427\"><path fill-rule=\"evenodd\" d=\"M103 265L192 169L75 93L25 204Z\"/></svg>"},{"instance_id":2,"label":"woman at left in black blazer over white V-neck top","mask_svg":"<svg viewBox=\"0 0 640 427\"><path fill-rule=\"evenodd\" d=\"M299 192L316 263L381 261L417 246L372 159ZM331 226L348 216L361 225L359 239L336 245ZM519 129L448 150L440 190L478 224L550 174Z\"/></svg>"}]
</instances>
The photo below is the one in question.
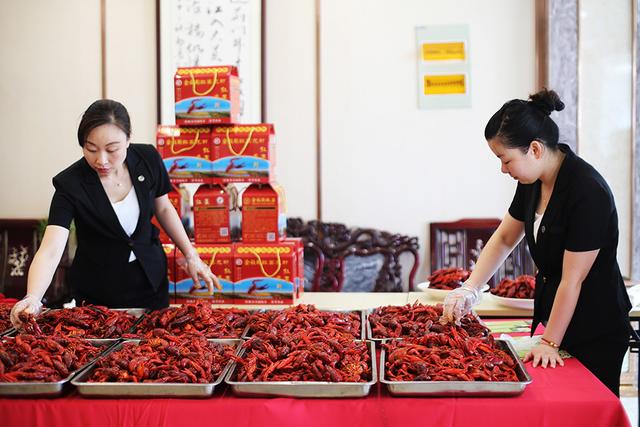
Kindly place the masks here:
<instances>
[{"instance_id":1,"label":"woman at left in black blazer over white V-neck top","mask_svg":"<svg viewBox=\"0 0 640 427\"><path fill-rule=\"evenodd\" d=\"M37 314L75 221L78 248L70 281L78 304L157 309L169 304L167 259L151 223L155 215L183 252L185 269L209 292L219 283L187 237L168 199L169 177L155 147L131 144L125 107L98 100L78 127L83 158L53 178L55 194L40 248L27 279L27 295L11 313Z\"/></svg>"}]
</instances>

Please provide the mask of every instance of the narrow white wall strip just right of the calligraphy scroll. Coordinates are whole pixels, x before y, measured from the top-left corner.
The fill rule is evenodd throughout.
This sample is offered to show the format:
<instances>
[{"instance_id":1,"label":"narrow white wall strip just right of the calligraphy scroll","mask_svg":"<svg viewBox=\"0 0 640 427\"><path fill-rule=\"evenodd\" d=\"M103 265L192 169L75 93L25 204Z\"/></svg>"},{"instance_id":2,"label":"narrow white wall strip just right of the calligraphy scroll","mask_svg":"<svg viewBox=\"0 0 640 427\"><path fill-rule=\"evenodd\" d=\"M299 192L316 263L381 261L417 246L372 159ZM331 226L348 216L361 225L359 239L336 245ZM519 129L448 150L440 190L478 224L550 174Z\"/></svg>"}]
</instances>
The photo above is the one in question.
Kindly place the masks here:
<instances>
[{"instance_id":1,"label":"narrow white wall strip just right of the calligraphy scroll","mask_svg":"<svg viewBox=\"0 0 640 427\"><path fill-rule=\"evenodd\" d=\"M290 216L316 218L314 0L266 6L266 120L276 129L276 176Z\"/></svg>"}]
</instances>

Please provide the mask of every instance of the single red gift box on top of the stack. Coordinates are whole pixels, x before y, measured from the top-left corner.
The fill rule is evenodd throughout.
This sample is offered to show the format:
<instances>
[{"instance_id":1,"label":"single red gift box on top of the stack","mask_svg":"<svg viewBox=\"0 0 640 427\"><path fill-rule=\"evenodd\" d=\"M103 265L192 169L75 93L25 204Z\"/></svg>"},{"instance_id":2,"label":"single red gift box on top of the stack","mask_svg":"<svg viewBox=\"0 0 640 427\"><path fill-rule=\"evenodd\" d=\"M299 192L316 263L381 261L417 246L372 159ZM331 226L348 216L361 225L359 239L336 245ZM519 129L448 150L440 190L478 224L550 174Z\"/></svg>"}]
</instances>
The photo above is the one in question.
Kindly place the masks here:
<instances>
[{"instance_id":1,"label":"single red gift box on top of the stack","mask_svg":"<svg viewBox=\"0 0 640 427\"><path fill-rule=\"evenodd\" d=\"M234 66L178 68L174 77L176 123L237 123L240 80Z\"/></svg>"}]
</instances>

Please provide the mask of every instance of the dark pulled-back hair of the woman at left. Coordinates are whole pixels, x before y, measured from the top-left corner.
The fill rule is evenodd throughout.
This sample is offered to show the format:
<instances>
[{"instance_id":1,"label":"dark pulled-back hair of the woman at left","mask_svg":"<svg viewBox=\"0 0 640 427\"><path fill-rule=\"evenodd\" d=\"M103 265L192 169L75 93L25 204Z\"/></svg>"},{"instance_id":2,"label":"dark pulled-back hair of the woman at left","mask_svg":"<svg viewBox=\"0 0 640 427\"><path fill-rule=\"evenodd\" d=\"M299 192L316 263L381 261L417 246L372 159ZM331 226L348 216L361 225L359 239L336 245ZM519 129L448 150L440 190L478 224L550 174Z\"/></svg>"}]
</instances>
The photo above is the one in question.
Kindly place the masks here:
<instances>
[{"instance_id":1,"label":"dark pulled-back hair of the woman at left","mask_svg":"<svg viewBox=\"0 0 640 427\"><path fill-rule=\"evenodd\" d=\"M87 108L78 125L78 143L84 147L89 132L98 126L112 124L131 137L131 120L124 105L111 99L99 99Z\"/></svg>"}]
</instances>

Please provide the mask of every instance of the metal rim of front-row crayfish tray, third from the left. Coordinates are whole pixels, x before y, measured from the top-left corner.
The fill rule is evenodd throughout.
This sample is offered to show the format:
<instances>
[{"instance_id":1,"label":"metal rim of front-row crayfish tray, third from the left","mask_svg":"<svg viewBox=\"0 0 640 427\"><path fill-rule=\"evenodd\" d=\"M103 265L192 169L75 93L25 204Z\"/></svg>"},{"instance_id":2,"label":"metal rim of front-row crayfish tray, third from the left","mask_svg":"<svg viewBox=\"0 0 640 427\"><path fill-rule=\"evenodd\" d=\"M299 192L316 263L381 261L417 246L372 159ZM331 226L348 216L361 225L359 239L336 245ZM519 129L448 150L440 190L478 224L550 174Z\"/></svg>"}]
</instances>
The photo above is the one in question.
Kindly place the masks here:
<instances>
[{"instance_id":1,"label":"metal rim of front-row crayfish tray, third from the left","mask_svg":"<svg viewBox=\"0 0 640 427\"><path fill-rule=\"evenodd\" d=\"M371 380L365 383L332 383L328 381L261 381L238 382L232 381L237 369L234 362L225 382L231 386L234 394L238 396L276 396L276 397L364 397L369 394L371 386L377 381L376 350L372 341L369 344L371 356ZM242 357L245 349L239 353Z\"/></svg>"}]
</instances>

